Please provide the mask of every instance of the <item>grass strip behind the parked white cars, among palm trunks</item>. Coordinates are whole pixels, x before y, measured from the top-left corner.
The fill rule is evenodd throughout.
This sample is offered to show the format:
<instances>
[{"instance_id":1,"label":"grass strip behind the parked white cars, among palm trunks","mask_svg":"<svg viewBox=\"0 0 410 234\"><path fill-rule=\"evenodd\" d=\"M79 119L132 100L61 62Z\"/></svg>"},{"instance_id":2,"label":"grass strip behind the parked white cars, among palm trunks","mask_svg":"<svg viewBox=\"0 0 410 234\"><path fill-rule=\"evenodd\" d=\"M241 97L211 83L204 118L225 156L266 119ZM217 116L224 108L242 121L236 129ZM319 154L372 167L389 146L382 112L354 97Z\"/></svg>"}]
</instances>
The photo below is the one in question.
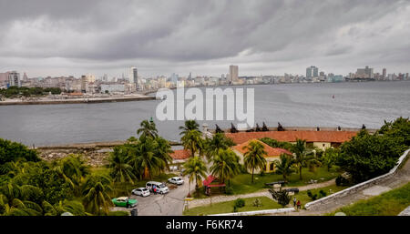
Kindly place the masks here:
<instances>
[{"instance_id":1,"label":"grass strip behind the parked white cars, among palm trunks","mask_svg":"<svg viewBox=\"0 0 410 234\"><path fill-rule=\"evenodd\" d=\"M91 174L94 175L108 175L109 170L105 167L95 167L91 168ZM135 180L134 184L132 183L114 183L113 191L109 194L112 198L130 196L131 190L134 188L145 187L145 184L148 181L158 181L158 182L167 182L168 178L177 177L176 174L161 174L159 176L154 176L152 178L144 178L141 180Z\"/></svg>"}]
</instances>

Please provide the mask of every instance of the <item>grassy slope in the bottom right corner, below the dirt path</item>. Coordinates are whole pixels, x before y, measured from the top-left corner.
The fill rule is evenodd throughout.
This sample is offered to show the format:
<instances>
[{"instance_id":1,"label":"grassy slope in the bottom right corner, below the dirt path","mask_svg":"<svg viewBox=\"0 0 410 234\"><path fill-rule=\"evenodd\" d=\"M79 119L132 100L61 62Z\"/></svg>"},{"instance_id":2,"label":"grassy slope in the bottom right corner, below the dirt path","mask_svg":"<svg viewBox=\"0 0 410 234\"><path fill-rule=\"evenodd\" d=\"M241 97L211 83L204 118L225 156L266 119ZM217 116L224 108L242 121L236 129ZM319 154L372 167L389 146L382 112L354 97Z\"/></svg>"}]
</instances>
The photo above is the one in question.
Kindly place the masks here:
<instances>
[{"instance_id":1,"label":"grassy slope in the bottom right corner, below the dirt path","mask_svg":"<svg viewBox=\"0 0 410 234\"><path fill-rule=\"evenodd\" d=\"M374 198L361 200L328 215L343 212L348 216L396 216L410 206L410 183Z\"/></svg>"}]
</instances>

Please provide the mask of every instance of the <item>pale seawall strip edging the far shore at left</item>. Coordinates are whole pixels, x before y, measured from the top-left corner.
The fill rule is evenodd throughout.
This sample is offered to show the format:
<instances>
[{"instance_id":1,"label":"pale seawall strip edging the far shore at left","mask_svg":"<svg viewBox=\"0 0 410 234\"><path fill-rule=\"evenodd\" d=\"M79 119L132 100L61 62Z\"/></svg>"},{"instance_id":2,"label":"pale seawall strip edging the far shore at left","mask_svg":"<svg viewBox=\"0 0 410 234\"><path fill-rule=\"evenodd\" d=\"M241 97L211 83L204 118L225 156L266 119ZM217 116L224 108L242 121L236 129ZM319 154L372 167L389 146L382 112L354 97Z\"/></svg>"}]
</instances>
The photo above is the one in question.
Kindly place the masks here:
<instances>
[{"instance_id":1,"label":"pale seawall strip edging the far shore at left","mask_svg":"<svg viewBox=\"0 0 410 234\"><path fill-rule=\"evenodd\" d=\"M92 104L107 102L129 102L156 100L156 97L107 97L107 98L77 98L60 100L38 100L38 101L1 101L0 106L13 105L56 105L56 104Z\"/></svg>"}]
</instances>

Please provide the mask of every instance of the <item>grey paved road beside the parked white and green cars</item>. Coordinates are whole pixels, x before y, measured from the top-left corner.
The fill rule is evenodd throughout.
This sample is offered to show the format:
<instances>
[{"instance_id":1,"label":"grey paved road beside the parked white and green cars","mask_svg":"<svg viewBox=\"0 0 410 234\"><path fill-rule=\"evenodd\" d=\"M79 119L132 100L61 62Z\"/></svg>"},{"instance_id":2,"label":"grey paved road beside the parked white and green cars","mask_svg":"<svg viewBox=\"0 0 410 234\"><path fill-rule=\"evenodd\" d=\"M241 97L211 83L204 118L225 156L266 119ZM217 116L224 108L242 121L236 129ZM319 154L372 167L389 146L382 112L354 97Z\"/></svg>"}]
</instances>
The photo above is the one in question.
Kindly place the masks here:
<instances>
[{"instance_id":1,"label":"grey paved road beside the parked white and green cars","mask_svg":"<svg viewBox=\"0 0 410 234\"><path fill-rule=\"evenodd\" d=\"M185 183L178 188L169 190L165 195L154 195L142 198L140 196L131 196L138 199L138 216L181 216L184 207L184 198L188 194L188 178L182 178ZM191 185L192 187L192 185ZM130 210L124 208L115 208L113 210Z\"/></svg>"}]
</instances>

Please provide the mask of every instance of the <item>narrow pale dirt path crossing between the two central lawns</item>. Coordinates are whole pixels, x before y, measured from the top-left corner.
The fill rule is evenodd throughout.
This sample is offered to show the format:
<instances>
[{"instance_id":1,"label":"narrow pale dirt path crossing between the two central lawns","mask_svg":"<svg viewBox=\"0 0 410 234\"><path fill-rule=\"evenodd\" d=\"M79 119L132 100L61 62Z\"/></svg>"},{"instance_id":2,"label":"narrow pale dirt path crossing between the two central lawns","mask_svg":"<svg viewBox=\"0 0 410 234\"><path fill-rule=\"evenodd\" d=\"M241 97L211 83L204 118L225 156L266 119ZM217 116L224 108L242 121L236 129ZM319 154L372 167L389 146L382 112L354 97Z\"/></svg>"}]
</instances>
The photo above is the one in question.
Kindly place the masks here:
<instances>
[{"instance_id":1,"label":"narrow pale dirt path crossing between the two central lawns","mask_svg":"<svg viewBox=\"0 0 410 234\"><path fill-rule=\"evenodd\" d=\"M306 185L306 186L301 186L301 187L285 187L285 188L299 188L299 191L304 191L308 189L328 187L333 184L335 184L335 179L332 179L332 180L329 180L323 183L316 183L316 184L311 184L311 185ZM231 201L237 198L256 198L256 197L267 197L267 198L273 199L271 193L269 192L269 189L263 189L259 192L247 193L247 194L212 196L212 203ZM196 207L207 206L207 205L210 205L210 198L200 198L200 199L194 199L190 201L190 208L196 208Z\"/></svg>"}]
</instances>

